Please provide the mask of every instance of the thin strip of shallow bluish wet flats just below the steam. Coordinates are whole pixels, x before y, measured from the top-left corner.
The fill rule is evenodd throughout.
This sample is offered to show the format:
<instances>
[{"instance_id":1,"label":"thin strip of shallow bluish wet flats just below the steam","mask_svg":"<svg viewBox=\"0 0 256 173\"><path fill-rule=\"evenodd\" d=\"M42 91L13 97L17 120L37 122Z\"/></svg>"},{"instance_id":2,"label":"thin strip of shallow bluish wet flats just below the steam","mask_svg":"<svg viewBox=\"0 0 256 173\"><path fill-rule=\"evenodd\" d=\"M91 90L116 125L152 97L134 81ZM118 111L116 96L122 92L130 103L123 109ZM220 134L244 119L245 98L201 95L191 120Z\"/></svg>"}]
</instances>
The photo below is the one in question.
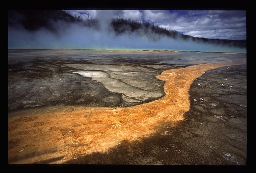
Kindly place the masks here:
<instances>
[{"instance_id":1,"label":"thin strip of shallow bluish wet flats just below the steam","mask_svg":"<svg viewBox=\"0 0 256 173\"><path fill-rule=\"evenodd\" d=\"M29 53L9 53L8 64L17 62L33 61L87 61L87 60L108 60L108 61L134 61L151 64L180 64L195 65L201 63L220 63L221 61L243 61L246 64L246 54L234 53L212 53L212 52L169 52L169 51L52 51Z\"/></svg>"}]
</instances>

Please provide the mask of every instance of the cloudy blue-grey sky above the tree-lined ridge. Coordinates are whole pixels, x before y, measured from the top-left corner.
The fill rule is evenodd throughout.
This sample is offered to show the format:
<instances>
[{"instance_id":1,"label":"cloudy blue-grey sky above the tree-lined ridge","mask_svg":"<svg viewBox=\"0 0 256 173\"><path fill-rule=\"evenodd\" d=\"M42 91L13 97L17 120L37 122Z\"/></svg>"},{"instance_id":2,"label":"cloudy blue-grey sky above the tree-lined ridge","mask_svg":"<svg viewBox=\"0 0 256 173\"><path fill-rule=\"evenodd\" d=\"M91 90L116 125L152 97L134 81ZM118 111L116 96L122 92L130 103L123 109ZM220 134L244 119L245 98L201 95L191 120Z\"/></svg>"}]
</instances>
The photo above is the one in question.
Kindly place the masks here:
<instances>
[{"instance_id":1,"label":"cloudy blue-grey sky above the tree-lined ridge","mask_svg":"<svg viewBox=\"0 0 256 173\"><path fill-rule=\"evenodd\" d=\"M245 11L68 10L108 22L112 18L147 21L186 35L211 39L246 39Z\"/></svg>"}]
</instances>

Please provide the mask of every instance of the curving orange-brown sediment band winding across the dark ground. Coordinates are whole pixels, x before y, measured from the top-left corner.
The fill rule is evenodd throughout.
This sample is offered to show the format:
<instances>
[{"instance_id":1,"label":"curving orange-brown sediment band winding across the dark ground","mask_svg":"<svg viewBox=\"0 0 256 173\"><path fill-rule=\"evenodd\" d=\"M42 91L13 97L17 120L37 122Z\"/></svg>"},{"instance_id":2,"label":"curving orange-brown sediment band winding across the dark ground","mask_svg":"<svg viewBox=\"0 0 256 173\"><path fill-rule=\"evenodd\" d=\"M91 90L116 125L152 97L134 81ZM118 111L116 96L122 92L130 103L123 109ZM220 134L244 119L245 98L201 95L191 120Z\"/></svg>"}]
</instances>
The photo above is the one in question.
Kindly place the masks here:
<instances>
[{"instance_id":1,"label":"curving orange-brown sediment band winding across the dark ground","mask_svg":"<svg viewBox=\"0 0 256 173\"><path fill-rule=\"evenodd\" d=\"M200 64L157 76L166 95L128 108L51 106L9 113L9 164L56 163L76 154L106 152L124 140L137 140L166 122L183 120L189 88L205 71L233 64ZM22 115L22 116L21 116Z\"/></svg>"}]
</instances>

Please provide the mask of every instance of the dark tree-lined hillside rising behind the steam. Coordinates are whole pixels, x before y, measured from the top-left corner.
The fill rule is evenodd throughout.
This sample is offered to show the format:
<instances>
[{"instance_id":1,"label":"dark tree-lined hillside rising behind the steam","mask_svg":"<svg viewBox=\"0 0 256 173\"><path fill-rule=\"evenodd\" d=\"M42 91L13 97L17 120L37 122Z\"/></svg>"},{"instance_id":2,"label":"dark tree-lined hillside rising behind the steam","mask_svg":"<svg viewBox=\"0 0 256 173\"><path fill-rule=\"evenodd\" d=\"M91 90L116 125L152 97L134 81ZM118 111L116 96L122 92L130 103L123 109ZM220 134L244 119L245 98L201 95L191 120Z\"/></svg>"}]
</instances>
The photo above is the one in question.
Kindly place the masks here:
<instances>
[{"instance_id":1,"label":"dark tree-lined hillside rising behind the steam","mask_svg":"<svg viewBox=\"0 0 256 173\"><path fill-rule=\"evenodd\" d=\"M72 23L80 24L84 27L99 27L97 19L81 18L75 14L68 14L68 11L62 10L9 10L8 26L22 25L28 31L36 31L40 28L46 28L52 32L58 33L60 28L55 26L57 21L64 21L68 25ZM152 25L148 22L138 22L132 19L116 18L112 19L110 26L116 34L137 33L146 35L152 40L157 40L161 36L167 36L174 39L193 40L201 43L234 46L246 48L246 40L219 40L197 38L190 35L184 35L175 30L166 29L158 25Z\"/></svg>"}]
</instances>

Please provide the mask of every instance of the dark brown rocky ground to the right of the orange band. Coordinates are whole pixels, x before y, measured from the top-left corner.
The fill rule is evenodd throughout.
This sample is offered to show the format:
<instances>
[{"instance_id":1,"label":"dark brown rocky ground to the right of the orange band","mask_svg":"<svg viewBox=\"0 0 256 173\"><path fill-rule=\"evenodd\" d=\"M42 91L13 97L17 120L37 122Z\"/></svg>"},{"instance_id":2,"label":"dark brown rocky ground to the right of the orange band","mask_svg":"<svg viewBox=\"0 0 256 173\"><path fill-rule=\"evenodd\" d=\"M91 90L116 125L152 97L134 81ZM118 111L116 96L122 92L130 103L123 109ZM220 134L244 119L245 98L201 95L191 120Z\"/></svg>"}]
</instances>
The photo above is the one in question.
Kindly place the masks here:
<instances>
[{"instance_id":1,"label":"dark brown rocky ground to the right of the orange band","mask_svg":"<svg viewBox=\"0 0 256 173\"><path fill-rule=\"evenodd\" d=\"M166 123L150 136L66 163L245 165L246 66L207 71L189 93L190 110L177 127Z\"/></svg>"}]
</instances>

